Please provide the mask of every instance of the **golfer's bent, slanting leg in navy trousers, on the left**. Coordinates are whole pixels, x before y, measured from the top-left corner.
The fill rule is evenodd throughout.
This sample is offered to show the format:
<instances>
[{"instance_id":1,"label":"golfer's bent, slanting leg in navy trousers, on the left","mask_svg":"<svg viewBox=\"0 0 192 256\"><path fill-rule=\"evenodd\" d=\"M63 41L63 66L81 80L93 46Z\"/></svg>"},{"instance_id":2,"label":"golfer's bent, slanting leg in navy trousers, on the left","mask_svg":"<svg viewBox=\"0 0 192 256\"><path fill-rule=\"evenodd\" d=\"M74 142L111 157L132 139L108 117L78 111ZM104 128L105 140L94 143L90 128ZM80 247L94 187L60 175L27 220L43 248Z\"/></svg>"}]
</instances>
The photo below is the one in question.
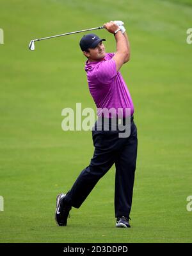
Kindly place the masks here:
<instances>
[{"instance_id":1,"label":"golfer's bent, slanting leg in navy trousers, on the left","mask_svg":"<svg viewBox=\"0 0 192 256\"><path fill-rule=\"evenodd\" d=\"M90 165L86 167L67 193L66 201L69 205L79 208L93 187L115 163L115 145L118 133L110 131L93 131L95 151Z\"/></svg>"}]
</instances>

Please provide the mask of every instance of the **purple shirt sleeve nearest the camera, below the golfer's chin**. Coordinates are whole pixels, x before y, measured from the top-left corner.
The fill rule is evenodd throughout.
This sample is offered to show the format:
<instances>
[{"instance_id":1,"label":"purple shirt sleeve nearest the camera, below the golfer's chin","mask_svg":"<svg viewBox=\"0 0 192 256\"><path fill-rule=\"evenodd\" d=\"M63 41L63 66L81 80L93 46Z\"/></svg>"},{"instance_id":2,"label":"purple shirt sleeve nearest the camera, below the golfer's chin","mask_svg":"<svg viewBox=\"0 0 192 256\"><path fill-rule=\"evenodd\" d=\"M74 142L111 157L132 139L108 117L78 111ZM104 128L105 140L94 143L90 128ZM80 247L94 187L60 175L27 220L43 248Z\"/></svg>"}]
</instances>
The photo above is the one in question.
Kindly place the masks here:
<instances>
[{"instance_id":1,"label":"purple shirt sleeve nearest the camera, below the golfer's chin","mask_svg":"<svg viewBox=\"0 0 192 256\"><path fill-rule=\"evenodd\" d=\"M96 77L102 84L109 84L116 75L116 63L113 59L102 61L97 66Z\"/></svg>"}]
</instances>

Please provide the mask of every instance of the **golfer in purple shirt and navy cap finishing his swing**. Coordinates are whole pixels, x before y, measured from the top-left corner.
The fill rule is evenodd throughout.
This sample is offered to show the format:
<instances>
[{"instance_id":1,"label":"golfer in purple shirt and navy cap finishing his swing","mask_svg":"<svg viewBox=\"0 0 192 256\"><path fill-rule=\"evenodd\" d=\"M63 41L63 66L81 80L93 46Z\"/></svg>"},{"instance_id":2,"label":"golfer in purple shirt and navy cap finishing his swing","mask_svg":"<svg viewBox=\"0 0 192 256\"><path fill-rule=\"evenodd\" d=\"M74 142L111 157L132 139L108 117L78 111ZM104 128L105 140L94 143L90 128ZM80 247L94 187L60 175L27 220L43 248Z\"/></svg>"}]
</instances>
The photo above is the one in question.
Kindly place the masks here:
<instances>
[{"instance_id":1,"label":"golfer in purple shirt and navy cap finishing his swing","mask_svg":"<svg viewBox=\"0 0 192 256\"><path fill-rule=\"evenodd\" d=\"M115 217L116 227L130 228L129 215L132 205L132 191L137 157L137 128L134 124L134 106L131 95L120 74L120 68L130 59L130 46L122 21L111 21L104 28L116 41L116 52L106 53L103 41L95 34L84 35L80 47L87 58L85 71L88 86L97 106L98 119L92 131L95 151L86 167L67 194L56 199L55 219L59 226L67 225L70 209L79 208L93 187L115 163ZM102 111L103 109L113 109ZM118 116L118 110L121 109ZM129 111L127 111L127 109ZM115 114L115 111L116 114ZM106 113L107 112L107 113ZM99 120L99 121L98 121ZM108 121L106 129L105 121ZM115 122L113 122L116 120ZM129 120L129 136L118 124L126 126ZM121 131L120 131L121 130Z\"/></svg>"}]
</instances>

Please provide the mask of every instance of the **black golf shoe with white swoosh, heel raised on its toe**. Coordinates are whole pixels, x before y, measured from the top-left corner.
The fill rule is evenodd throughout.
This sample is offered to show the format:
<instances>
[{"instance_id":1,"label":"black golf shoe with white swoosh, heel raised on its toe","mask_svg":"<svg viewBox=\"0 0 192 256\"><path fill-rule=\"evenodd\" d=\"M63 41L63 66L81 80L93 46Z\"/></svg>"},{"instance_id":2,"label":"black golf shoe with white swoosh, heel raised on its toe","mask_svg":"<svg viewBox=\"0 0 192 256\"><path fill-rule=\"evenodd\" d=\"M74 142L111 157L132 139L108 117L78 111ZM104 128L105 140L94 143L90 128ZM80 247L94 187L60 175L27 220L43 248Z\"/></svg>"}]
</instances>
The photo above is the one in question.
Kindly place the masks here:
<instances>
[{"instance_id":1,"label":"black golf shoe with white swoosh, heel raised on its toe","mask_svg":"<svg viewBox=\"0 0 192 256\"><path fill-rule=\"evenodd\" d=\"M71 206L65 202L66 194L58 194L56 198L56 211L55 220L58 226L67 226L67 218L71 209Z\"/></svg>"}]
</instances>

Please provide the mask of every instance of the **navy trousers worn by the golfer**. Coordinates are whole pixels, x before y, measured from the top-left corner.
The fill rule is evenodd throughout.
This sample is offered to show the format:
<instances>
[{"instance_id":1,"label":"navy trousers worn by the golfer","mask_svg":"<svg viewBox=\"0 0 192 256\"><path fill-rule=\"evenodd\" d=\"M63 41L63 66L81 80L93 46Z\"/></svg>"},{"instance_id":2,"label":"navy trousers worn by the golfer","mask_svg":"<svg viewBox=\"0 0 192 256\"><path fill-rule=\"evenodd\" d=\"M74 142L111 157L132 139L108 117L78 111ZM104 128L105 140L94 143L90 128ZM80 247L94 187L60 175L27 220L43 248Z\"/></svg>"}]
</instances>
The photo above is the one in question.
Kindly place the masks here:
<instances>
[{"instance_id":1,"label":"navy trousers worn by the golfer","mask_svg":"<svg viewBox=\"0 0 192 256\"><path fill-rule=\"evenodd\" d=\"M68 191L68 204L79 208L93 187L115 163L115 217L129 217L137 158L137 128L131 120L131 134L120 138L119 131L92 131L95 151L86 167Z\"/></svg>"}]
</instances>

